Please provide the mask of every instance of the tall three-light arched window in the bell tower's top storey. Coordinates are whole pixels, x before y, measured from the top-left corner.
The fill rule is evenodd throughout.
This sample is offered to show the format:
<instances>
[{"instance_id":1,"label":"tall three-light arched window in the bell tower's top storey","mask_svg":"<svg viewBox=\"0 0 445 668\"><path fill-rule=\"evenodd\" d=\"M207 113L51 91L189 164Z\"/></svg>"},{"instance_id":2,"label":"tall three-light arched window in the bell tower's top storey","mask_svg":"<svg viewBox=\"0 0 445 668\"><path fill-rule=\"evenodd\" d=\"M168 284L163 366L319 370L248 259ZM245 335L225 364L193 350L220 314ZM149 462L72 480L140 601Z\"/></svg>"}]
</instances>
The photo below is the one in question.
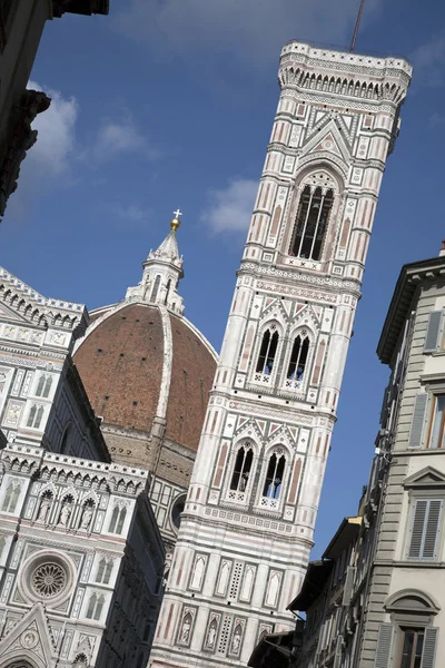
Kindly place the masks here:
<instances>
[{"instance_id":1,"label":"tall three-light arched window in the bell tower's top storey","mask_svg":"<svg viewBox=\"0 0 445 668\"><path fill-rule=\"evenodd\" d=\"M334 204L332 189L305 186L298 205L295 232L289 254L306 259L319 259L323 240Z\"/></svg>"}]
</instances>

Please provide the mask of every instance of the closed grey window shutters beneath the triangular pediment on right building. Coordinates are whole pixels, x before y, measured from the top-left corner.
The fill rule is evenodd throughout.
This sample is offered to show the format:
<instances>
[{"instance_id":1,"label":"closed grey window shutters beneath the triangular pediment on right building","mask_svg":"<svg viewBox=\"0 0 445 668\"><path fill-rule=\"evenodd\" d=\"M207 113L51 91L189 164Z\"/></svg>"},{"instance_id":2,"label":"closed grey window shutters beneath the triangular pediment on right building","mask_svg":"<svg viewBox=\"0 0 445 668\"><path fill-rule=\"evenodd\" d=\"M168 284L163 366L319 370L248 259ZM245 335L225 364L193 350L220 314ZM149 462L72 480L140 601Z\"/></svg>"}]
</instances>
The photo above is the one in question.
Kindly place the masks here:
<instances>
[{"instance_id":1,"label":"closed grey window shutters beneath the triangular pediment on right building","mask_svg":"<svg viewBox=\"0 0 445 668\"><path fill-rule=\"evenodd\" d=\"M442 499L418 499L414 507L408 559L436 559Z\"/></svg>"}]
</instances>

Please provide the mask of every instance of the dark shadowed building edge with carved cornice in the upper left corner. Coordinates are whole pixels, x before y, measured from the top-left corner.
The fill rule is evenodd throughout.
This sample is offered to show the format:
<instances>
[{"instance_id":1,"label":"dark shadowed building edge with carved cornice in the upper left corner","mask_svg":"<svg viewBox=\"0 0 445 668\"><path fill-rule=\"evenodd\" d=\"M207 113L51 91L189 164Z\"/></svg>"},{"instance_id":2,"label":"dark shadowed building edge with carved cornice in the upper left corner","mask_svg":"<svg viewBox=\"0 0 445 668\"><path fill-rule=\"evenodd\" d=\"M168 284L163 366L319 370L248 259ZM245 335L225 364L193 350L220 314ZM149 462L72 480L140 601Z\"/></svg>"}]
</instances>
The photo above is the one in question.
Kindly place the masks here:
<instances>
[{"instance_id":1,"label":"dark shadowed building edge with carved cornice in the upper left corner","mask_svg":"<svg viewBox=\"0 0 445 668\"><path fill-rule=\"evenodd\" d=\"M108 0L0 2L0 218L17 188L20 164L37 139L31 124L50 99L27 84L44 23L65 12L108 13Z\"/></svg>"}]
</instances>

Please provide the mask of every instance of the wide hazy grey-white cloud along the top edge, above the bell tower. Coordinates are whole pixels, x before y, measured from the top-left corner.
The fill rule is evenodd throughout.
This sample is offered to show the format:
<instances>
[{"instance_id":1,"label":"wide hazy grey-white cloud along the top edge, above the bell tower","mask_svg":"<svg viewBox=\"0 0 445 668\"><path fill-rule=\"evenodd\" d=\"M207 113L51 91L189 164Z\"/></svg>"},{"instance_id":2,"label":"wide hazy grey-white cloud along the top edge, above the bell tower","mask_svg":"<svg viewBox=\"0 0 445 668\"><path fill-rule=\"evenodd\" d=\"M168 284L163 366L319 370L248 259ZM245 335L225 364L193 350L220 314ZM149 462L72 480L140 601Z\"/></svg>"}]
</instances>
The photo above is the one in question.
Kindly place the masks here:
<instances>
[{"instance_id":1,"label":"wide hazy grey-white cloud along the top edge, above the bell tower","mask_svg":"<svg viewBox=\"0 0 445 668\"><path fill-rule=\"evenodd\" d=\"M366 12L379 3L369 0ZM131 0L113 26L165 57L222 51L263 65L296 33L348 43L357 9L353 0Z\"/></svg>"}]
</instances>

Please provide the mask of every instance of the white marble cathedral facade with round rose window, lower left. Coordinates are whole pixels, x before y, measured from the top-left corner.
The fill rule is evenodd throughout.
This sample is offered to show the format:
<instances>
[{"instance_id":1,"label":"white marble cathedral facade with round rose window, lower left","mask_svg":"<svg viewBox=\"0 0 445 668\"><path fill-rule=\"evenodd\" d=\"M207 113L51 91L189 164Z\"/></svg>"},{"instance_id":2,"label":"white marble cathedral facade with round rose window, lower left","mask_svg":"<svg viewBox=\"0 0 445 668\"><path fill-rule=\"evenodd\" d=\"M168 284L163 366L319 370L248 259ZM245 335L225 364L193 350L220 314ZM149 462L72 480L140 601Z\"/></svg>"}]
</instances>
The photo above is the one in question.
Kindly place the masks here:
<instances>
[{"instance_id":1,"label":"white marble cathedral facade with round rose window, lower left","mask_svg":"<svg viewBox=\"0 0 445 668\"><path fill-rule=\"evenodd\" d=\"M165 549L150 475L110 462L72 363L87 324L0 268L1 668L142 668L150 649Z\"/></svg>"}]
</instances>

